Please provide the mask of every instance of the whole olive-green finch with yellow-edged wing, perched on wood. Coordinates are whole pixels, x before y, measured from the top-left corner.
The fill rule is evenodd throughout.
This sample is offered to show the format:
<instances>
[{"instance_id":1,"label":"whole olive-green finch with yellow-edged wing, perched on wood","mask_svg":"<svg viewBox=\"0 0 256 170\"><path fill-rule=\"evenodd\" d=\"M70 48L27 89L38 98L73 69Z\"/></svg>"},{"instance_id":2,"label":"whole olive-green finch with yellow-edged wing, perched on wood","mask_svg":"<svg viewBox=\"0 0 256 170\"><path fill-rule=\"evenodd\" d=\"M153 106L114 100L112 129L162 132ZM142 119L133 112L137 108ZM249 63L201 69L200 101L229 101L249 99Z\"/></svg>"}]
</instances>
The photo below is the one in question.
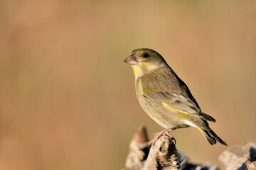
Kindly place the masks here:
<instances>
[{"instance_id":1,"label":"whole olive-green finch with yellow-edged wing, perched on wood","mask_svg":"<svg viewBox=\"0 0 256 170\"><path fill-rule=\"evenodd\" d=\"M174 139L169 134L171 130L188 127L198 129L210 145L217 142L227 145L210 129L208 121L215 123L215 119L201 111L188 86L158 52L139 48L133 50L124 62L132 66L136 96L143 110L165 128L153 134L154 139L149 145L166 135Z\"/></svg>"}]
</instances>

